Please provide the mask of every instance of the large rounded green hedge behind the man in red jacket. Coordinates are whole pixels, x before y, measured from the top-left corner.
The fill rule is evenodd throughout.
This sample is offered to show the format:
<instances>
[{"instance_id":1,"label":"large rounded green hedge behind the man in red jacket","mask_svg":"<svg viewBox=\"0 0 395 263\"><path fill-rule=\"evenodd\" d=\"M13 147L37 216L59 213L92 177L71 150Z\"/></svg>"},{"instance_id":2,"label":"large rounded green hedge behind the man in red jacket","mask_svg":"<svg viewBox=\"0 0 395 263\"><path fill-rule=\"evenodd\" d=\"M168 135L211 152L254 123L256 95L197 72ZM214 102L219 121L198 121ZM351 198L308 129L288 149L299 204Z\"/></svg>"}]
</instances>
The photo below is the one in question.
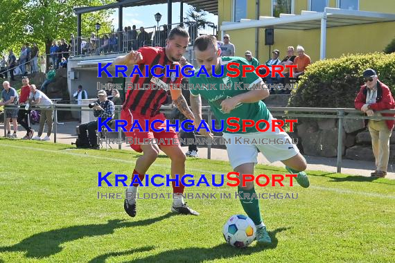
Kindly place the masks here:
<instances>
[{"instance_id":1,"label":"large rounded green hedge behind the man in red jacket","mask_svg":"<svg viewBox=\"0 0 395 263\"><path fill-rule=\"evenodd\" d=\"M395 95L395 53L344 55L308 66L290 98L290 107L353 108L365 69L374 69L378 80Z\"/></svg>"}]
</instances>

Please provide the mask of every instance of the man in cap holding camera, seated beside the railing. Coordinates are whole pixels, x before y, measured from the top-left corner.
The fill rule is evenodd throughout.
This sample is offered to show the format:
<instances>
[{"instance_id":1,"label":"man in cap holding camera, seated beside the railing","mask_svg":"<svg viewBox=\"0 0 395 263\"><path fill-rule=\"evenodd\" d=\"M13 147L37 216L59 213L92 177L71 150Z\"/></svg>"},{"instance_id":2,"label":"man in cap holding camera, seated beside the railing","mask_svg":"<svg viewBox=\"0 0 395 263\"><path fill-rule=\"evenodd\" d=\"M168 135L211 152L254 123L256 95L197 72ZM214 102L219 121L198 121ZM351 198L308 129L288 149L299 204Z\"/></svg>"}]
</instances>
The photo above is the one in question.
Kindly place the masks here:
<instances>
[{"instance_id":1,"label":"man in cap holding camera, seated beside the railing","mask_svg":"<svg viewBox=\"0 0 395 263\"><path fill-rule=\"evenodd\" d=\"M97 118L114 118L114 103L107 99L107 93L103 90L98 91L98 100L90 103L89 108L94 109L94 116ZM110 122L108 124L111 125ZM82 145L86 145L86 147L91 147L92 149L100 149L98 145L98 136L96 135L98 120L83 123L80 125L79 129L80 134L78 137L80 138Z\"/></svg>"}]
</instances>

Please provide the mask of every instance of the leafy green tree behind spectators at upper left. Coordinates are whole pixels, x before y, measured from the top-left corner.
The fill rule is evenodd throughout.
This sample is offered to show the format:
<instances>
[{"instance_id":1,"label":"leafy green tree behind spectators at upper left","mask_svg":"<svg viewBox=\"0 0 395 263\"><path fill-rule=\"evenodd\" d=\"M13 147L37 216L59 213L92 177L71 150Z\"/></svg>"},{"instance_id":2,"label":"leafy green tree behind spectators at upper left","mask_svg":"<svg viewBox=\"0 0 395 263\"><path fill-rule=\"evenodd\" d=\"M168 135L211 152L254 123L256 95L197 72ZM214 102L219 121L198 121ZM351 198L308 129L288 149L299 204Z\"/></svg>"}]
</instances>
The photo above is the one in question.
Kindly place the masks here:
<instances>
[{"instance_id":1,"label":"leafy green tree behind spectators at upper left","mask_svg":"<svg viewBox=\"0 0 395 263\"><path fill-rule=\"evenodd\" d=\"M73 8L102 6L111 0L0 0L0 34L5 41L0 42L0 50L19 48L26 42L36 42L40 53L49 47L53 39L67 39L76 35L77 16ZM109 15L113 10L101 10L82 15L82 35L94 32L94 24L99 22L102 32L110 32ZM43 48L45 46L45 48Z\"/></svg>"}]
</instances>

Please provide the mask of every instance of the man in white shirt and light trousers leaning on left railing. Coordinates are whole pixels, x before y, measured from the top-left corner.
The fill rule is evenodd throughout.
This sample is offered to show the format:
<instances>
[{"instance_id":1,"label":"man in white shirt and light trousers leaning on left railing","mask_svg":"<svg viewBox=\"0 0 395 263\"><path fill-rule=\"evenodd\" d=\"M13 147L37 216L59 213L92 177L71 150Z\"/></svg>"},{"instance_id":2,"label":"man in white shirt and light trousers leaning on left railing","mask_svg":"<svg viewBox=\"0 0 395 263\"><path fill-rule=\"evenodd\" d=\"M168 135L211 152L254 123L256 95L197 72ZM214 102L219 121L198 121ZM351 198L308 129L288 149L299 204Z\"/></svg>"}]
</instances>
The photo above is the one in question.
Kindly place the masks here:
<instances>
[{"instance_id":1,"label":"man in white shirt and light trousers leaning on left railing","mask_svg":"<svg viewBox=\"0 0 395 263\"><path fill-rule=\"evenodd\" d=\"M33 140L51 140L50 136L52 133L52 115L53 111L51 106L53 105L52 100L48 98L42 91L35 87L35 84L30 85L29 94L30 105L40 104L41 116L40 116L40 128L37 136L34 136ZM41 138L42 132L44 131L44 124L48 125L48 131L44 138Z\"/></svg>"}]
</instances>

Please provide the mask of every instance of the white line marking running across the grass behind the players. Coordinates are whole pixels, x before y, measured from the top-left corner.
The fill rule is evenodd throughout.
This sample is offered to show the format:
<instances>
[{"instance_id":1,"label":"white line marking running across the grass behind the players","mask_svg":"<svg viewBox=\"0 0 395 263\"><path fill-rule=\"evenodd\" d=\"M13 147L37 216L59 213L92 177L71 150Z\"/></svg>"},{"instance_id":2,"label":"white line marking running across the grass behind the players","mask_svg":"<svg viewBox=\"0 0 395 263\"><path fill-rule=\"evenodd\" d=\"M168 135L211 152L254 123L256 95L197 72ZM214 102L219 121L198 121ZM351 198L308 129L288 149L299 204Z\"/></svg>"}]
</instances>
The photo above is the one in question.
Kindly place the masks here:
<instances>
[{"instance_id":1,"label":"white line marking running across the grass behind the players","mask_svg":"<svg viewBox=\"0 0 395 263\"><path fill-rule=\"evenodd\" d=\"M133 161L123 160L123 159L118 159L118 158L110 158L110 157L96 156L96 155L89 155L89 154L77 154L77 153L74 153L74 152L64 152L62 150L40 149L40 148L35 148L35 147L26 147L26 146L17 146L17 145L4 145L4 144L0 144L0 146L12 147L12 148L17 148L17 149L30 149L30 150L33 150L33 151L41 151L41 152L52 152L52 153L55 153L55 154L67 154L67 155L71 155L71 156L98 158L98 159L102 159L102 160L120 161L122 163L134 164ZM157 163L153 163L152 166L170 168L170 165L159 165ZM200 170L200 169L194 169L194 168L188 168L188 170L195 171L195 172L206 172L206 174L207 173L208 174L224 174L224 172L206 171L206 170ZM327 188L327 187L318 186L318 185L310 185L310 188L317 189L317 190L324 190L324 191L332 191L332 192L337 192L337 193L340 193L340 194L358 194L358 195L363 195L363 196L367 196L367 197L381 197L381 198L395 199L395 196L393 196L393 195L377 194L377 193L374 193L374 192L361 192L361 191L353 191L353 190L347 190L347 189L341 189L341 188Z\"/></svg>"}]
</instances>

